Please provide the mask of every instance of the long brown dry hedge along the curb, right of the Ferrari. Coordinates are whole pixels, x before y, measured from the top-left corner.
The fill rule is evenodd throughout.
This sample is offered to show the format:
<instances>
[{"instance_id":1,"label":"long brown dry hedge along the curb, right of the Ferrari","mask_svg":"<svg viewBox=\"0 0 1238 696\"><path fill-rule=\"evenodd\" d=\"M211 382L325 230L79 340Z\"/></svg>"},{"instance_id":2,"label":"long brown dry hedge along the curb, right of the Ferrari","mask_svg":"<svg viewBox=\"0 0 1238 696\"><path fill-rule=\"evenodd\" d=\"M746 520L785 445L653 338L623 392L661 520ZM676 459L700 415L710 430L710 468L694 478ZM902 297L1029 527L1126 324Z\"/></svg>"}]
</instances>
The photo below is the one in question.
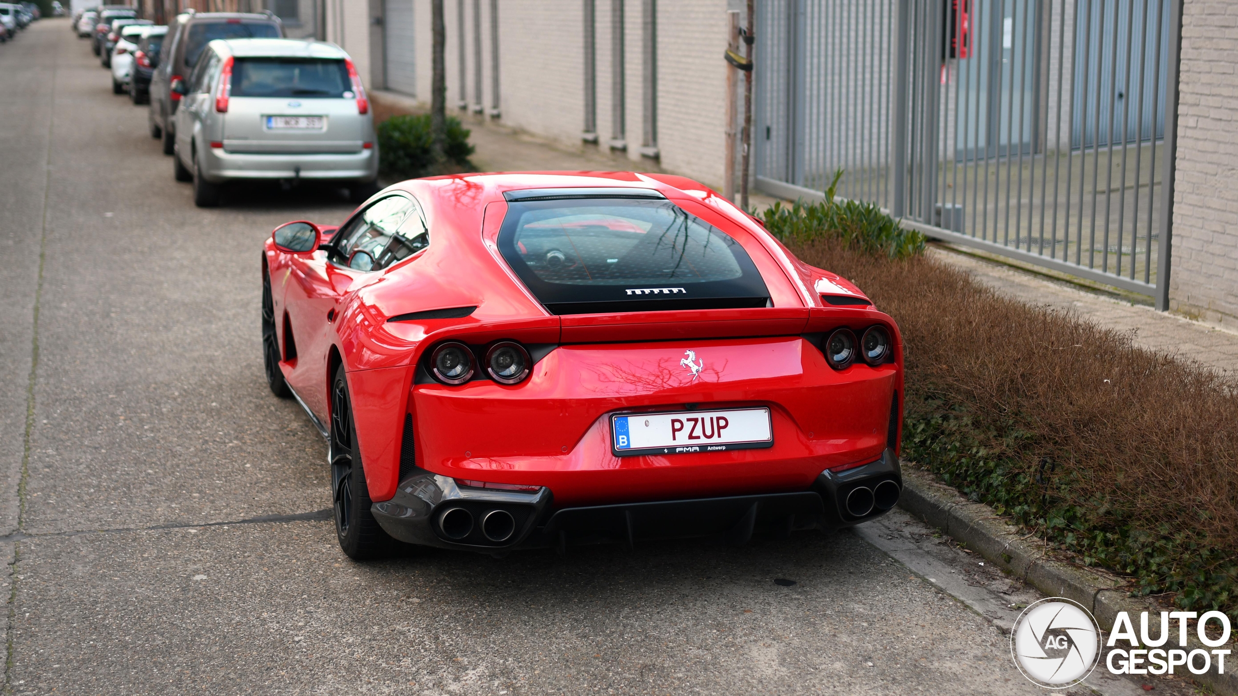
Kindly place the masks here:
<instances>
[{"instance_id":1,"label":"long brown dry hedge along the curb, right of the Ferrari","mask_svg":"<svg viewBox=\"0 0 1238 696\"><path fill-rule=\"evenodd\" d=\"M1143 593L1236 613L1238 384L924 256L794 251L899 323L907 459Z\"/></svg>"}]
</instances>

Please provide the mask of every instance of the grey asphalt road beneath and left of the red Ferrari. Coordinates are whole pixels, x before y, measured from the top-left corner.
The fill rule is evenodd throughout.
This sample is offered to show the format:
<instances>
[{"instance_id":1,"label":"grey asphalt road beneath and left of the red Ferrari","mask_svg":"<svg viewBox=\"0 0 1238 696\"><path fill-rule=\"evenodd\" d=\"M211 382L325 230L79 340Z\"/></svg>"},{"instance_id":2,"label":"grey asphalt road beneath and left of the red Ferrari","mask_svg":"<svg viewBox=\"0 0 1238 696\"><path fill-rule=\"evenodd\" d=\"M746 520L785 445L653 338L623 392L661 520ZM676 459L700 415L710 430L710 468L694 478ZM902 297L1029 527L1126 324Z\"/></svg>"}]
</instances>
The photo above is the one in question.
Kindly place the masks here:
<instances>
[{"instance_id":1,"label":"grey asphalt road beneath and left of the red Ferrari","mask_svg":"<svg viewBox=\"0 0 1238 696\"><path fill-rule=\"evenodd\" d=\"M854 533L349 561L259 330L262 239L343 195L194 208L66 20L0 46L0 122L11 692L1041 692Z\"/></svg>"}]
</instances>

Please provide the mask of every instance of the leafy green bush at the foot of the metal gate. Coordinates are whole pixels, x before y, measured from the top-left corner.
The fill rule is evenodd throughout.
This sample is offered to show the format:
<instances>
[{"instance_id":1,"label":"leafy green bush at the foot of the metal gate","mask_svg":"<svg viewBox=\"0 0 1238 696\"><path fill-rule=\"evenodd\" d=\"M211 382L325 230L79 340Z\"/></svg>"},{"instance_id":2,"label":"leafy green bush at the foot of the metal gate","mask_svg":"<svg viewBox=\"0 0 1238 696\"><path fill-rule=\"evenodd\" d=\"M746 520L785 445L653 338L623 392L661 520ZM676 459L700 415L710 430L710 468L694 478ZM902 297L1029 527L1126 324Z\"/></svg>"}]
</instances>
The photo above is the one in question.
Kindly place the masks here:
<instances>
[{"instance_id":1,"label":"leafy green bush at the foot of the metal gate","mask_svg":"<svg viewBox=\"0 0 1238 696\"><path fill-rule=\"evenodd\" d=\"M834 200L843 171L826 189L821 203L795 202L784 206L775 203L763 214L765 229L785 244L807 244L823 236L836 236L851 247L890 258L907 258L924 253L925 236L917 230L903 229L873 203Z\"/></svg>"}]
</instances>

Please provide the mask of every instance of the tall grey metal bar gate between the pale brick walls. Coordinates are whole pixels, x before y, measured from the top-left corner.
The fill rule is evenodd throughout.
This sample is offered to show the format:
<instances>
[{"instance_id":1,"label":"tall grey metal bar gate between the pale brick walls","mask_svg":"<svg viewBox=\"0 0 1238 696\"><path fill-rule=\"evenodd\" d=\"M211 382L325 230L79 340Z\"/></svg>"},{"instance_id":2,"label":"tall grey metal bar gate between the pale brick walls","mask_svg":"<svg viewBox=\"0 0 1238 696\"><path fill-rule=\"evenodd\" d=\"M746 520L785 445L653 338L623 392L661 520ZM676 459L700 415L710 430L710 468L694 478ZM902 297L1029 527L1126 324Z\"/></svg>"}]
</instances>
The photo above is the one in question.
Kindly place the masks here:
<instances>
[{"instance_id":1,"label":"tall grey metal bar gate between the pale brick walls","mask_svg":"<svg viewBox=\"0 0 1238 696\"><path fill-rule=\"evenodd\" d=\"M1182 0L766 0L758 185L1167 307Z\"/></svg>"}]
</instances>

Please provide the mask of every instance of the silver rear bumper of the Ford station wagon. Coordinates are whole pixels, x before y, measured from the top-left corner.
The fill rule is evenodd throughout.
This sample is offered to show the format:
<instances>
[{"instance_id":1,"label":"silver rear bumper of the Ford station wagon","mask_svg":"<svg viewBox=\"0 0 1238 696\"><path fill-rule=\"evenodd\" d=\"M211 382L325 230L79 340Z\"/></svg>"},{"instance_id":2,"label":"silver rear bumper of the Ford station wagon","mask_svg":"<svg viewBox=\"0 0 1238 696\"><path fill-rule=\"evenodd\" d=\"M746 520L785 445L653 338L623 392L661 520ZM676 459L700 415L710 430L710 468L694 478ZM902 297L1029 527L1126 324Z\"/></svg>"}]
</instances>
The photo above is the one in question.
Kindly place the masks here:
<instances>
[{"instance_id":1,"label":"silver rear bumper of the Ford station wagon","mask_svg":"<svg viewBox=\"0 0 1238 696\"><path fill-rule=\"evenodd\" d=\"M379 174L375 150L323 155L254 155L212 147L203 159L212 183L229 179L331 179L373 182Z\"/></svg>"}]
</instances>

